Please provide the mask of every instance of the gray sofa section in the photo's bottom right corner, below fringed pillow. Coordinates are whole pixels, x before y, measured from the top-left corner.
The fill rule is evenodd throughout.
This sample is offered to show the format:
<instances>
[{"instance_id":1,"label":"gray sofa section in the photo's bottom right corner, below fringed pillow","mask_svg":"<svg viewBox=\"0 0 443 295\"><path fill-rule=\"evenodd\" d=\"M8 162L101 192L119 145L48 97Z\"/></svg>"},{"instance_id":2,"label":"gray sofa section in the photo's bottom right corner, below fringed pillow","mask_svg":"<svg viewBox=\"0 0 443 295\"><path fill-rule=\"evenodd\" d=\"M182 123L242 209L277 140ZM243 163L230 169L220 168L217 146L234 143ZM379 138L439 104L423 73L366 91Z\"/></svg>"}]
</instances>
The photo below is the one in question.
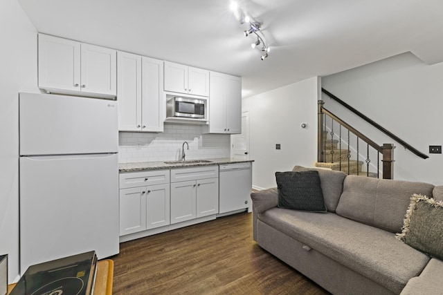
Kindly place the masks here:
<instances>
[{"instance_id":1,"label":"gray sofa section in the photo's bottom right corner, below fringed pillow","mask_svg":"<svg viewBox=\"0 0 443 295\"><path fill-rule=\"evenodd\" d=\"M422 274L410 278L401 295L443 294L443 261L431 258Z\"/></svg>"}]
</instances>

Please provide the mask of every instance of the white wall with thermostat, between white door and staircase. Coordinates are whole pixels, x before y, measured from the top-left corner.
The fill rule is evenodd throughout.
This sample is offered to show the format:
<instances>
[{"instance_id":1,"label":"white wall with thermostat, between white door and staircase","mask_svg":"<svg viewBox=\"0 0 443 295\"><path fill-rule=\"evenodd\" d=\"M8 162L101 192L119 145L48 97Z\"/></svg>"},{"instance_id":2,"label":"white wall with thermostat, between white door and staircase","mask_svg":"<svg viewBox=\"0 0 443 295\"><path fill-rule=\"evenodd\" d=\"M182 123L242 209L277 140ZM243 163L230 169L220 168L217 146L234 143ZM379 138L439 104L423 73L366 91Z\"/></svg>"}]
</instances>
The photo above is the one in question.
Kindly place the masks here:
<instances>
[{"instance_id":1,"label":"white wall with thermostat, between white door and staircase","mask_svg":"<svg viewBox=\"0 0 443 295\"><path fill-rule=\"evenodd\" d=\"M249 111L254 188L275 187L276 171L314 166L318 85L319 79L313 77L243 99L242 109ZM302 123L307 128L302 129Z\"/></svg>"}]
</instances>

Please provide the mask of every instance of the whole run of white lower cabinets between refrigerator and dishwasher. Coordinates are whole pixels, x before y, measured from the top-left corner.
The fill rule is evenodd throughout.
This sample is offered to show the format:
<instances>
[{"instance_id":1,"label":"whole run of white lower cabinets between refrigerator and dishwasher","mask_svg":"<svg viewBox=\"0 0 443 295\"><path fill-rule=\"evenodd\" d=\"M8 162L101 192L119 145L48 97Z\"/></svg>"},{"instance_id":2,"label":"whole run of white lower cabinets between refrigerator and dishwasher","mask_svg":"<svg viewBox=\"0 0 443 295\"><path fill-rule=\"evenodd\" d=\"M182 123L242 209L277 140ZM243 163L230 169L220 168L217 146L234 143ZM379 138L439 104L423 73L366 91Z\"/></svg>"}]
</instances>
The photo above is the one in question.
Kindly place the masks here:
<instances>
[{"instance_id":1,"label":"whole run of white lower cabinets between refrigerator and dishwasher","mask_svg":"<svg viewBox=\"0 0 443 295\"><path fill-rule=\"evenodd\" d=\"M216 218L219 166L120 173L120 242Z\"/></svg>"}]
</instances>

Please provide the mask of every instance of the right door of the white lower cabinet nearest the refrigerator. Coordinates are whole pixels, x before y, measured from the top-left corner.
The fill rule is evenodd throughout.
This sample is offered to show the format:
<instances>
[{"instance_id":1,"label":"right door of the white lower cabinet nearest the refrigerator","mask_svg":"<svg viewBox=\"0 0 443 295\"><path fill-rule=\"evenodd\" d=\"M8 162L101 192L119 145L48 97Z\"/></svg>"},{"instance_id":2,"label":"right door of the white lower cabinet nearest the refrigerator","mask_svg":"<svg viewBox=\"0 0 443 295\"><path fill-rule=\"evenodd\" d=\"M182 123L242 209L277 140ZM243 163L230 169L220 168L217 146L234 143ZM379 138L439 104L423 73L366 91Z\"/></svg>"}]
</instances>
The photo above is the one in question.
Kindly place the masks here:
<instances>
[{"instance_id":1,"label":"right door of the white lower cabinet nearest the refrigerator","mask_svg":"<svg viewBox=\"0 0 443 295\"><path fill-rule=\"evenodd\" d=\"M170 224L170 187L158 184L147 187L146 228L154 229Z\"/></svg>"}]
</instances>

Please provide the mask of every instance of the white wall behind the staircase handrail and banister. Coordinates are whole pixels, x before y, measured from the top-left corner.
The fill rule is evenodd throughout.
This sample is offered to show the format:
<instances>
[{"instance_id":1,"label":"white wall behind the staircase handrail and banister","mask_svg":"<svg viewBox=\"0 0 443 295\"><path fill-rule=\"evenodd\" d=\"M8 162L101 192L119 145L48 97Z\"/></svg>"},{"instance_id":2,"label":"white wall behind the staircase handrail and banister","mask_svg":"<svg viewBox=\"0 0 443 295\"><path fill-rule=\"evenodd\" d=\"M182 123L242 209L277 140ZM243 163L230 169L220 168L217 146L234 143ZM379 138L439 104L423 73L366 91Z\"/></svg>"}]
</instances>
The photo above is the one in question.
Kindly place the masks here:
<instances>
[{"instance_id":1,"label":"white wall behind the staircase handrail and banister","mask_svg":"<svg viewBox=\"0 0 443 295\"><path fill-rule=\"evenodd\" d=\"M429 145L443 145L443 63L429 66L404 53L322 78L327 91L381 124L422 153ZM325 108L354 125L377 144L394 143L394 178L443 184L443 155L423 160L365 122L356 121L323 95Z\"/></svg>"}]
</instances>

